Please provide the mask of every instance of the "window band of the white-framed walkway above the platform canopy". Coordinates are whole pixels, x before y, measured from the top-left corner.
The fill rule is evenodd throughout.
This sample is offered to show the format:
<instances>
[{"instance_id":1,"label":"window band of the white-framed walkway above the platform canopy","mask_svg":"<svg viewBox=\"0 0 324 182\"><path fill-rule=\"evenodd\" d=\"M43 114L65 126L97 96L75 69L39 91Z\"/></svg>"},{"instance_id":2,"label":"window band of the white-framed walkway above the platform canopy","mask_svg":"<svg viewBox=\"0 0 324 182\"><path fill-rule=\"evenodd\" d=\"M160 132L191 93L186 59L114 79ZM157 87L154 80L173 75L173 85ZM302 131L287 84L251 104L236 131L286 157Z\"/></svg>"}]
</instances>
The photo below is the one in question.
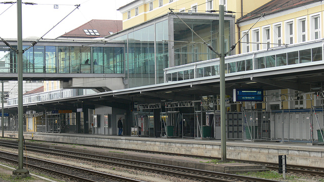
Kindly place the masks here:
<instances>
[{"instance_id":1,"label":"window band of the white-framed walkway above the platform canopy","mask_svg":"<svg viewBox=\"0 0 324 182\"><path fill-rule=\"evenodd\" d=\"M304 48L304 47L302 47ZM260 53L261 55L263 53ZM303 64L309 62L322 61L322 47L314 47L311 49L301 49L299 51L293 51L288 53L280 53L269 56L260 56L254 59L246 59L246 60L238 60L231 61L231 59L225 59L225 73L235 73L240 71L249 71L256 69L264 69L271 67L279 67L279 66L289 66L291 64ZM249 55L253 57L253 54ZM245 56L246 57L246 56ZM236 59L235 57L233 59ZM253 61L254 60L254 61ZM287 64L288 60L288 64ZM254 67L253 67L254 63ZM196 75L192 77L192 73L194 69L192 69L192 65L186 65L186 67L175 67L166 71L166 82L168 81L180 81L182 78L193 79L207 76L219 75L219 61L215 60L215 65L212 66L204 66L207 63L197 63L195 66ZM181 74L181 76L177 76ZM183 74L182 74L183 73Z\"/></svg>"}]
</instances>

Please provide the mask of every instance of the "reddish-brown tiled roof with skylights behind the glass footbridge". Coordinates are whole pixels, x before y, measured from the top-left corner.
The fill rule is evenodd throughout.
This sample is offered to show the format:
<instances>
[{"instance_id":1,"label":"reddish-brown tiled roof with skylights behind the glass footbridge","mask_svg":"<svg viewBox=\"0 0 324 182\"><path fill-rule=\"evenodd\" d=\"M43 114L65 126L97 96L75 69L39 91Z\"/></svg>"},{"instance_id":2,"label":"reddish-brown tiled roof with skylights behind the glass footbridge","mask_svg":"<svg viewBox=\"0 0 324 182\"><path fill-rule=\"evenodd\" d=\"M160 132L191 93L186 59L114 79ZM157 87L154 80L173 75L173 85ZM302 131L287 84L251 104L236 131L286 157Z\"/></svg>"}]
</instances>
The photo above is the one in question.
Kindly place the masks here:
<instances>
[{"instance_id":1,"label":"reddish-brown tiled roof with skylights behind the glass footbridge","mask_svg":"<svg viewBox=\"0 0 324 182\"><path fill-rule=\"evenodd\" d=\"M87 35L84 29L97 30L100 35ZM116 33L120 30L123 30L123 21L121 20L91 20L60 37L105 37L110 35L109 32Z\"/></svg>"}]
</instances>

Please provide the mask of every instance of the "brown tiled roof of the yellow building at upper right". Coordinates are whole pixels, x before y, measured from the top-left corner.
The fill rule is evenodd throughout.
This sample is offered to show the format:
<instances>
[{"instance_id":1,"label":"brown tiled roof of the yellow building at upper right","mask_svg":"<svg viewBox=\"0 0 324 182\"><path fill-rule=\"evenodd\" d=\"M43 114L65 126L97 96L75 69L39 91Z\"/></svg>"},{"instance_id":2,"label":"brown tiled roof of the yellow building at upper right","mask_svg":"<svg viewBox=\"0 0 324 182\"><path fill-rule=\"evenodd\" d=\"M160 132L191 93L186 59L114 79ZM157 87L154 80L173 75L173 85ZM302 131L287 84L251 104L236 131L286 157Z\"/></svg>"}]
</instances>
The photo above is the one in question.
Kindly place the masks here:
<instances>
[{"instance_id":1,"label":"brown tiled roof of the yellow building at upper right","mask_svg":"<svg viewBox=\"0 0 324 182\"><path fill-rule=\"evenodd\" d=\"M249 14L237 19L236 22L244 22L254 18L259 18L262 14L269 15L280 11L305 6L319 1L321 0L272 0L269 3L261 6L260 8L253 10Z\"/></svg>"}]
</instances>

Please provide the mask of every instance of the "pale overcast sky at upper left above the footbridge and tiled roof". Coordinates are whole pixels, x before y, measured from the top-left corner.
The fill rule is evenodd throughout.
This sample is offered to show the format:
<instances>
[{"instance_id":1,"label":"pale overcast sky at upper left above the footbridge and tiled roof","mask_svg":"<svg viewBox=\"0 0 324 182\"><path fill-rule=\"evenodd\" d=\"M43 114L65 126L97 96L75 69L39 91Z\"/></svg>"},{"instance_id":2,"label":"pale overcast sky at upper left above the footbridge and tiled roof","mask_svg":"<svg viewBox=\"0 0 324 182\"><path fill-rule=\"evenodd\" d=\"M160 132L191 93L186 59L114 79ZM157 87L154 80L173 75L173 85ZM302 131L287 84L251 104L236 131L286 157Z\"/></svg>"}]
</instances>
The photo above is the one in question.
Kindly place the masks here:
<instances>
[{"instance_id":1,"label":"pale overcast sky at upper left above the footbridge and tiled roof","mask_svg":"<svg viewBox=\"0 0 324 182\"><path fill-rule=\"evenodd\" d=\"M23 38L30 36L40 37L44 35L75 9L73 5L79 4L80 7L50 31L44 38L56 38L92 19L121 20L122 16L116 10L132 1L133 0L27 1L28 3L36 3L38 5L22 5ZM54 9L54 5L58 5L58 9ZM0 20L2 23L0 37L3 38L17 38L17 5L14 4L12 7L10 6L11 4L0 4Z\"/></svg>"}]
</instances>

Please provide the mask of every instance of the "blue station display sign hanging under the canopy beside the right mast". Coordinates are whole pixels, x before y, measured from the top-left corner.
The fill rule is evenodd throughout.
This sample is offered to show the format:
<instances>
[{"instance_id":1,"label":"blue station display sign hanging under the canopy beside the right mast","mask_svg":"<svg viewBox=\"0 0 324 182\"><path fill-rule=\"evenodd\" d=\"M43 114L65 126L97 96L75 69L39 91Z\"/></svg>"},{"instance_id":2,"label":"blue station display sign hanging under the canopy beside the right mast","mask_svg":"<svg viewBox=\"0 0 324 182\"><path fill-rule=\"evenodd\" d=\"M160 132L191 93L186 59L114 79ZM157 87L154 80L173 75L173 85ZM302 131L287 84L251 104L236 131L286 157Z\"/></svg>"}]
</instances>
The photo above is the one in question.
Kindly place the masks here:
<instances>
[{"instance_id":1,"label":"blue station display sign hanging under the canopy beside the right mast","mask_svg":"<svg viewBox=\"0 0 324 182\"><path fill-rule=\"evenodd\" d=\"M233 89L233 101L262 102L263 89Z\"/></svg>"}]
</instances>

